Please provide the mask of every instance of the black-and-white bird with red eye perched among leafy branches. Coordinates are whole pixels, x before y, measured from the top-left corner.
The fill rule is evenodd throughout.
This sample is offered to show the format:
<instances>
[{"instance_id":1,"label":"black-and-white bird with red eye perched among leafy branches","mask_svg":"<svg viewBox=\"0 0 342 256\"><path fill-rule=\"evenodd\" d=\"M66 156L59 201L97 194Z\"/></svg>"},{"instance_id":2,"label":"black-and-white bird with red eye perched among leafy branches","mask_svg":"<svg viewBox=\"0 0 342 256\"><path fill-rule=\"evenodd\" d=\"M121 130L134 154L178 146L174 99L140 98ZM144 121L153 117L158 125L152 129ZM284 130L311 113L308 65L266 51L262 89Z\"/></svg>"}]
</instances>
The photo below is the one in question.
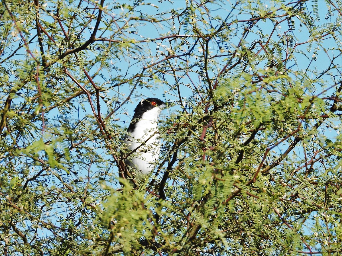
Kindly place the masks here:
<instances>
[{"instance_id":1,"label":"black-and-white bird with red eye perched among leafy branches","mask_svg":"<svg viewBox=\"0 0 342 256\"><path fill-rule=\"evenodd\" d=\"M162 100L148 98L143 99L134 110L124 142L129 149L125 164L136 176L147 175L155 168L161 146L157 124L159 114L165 107Z\"/></svg>"}]
</instances>

